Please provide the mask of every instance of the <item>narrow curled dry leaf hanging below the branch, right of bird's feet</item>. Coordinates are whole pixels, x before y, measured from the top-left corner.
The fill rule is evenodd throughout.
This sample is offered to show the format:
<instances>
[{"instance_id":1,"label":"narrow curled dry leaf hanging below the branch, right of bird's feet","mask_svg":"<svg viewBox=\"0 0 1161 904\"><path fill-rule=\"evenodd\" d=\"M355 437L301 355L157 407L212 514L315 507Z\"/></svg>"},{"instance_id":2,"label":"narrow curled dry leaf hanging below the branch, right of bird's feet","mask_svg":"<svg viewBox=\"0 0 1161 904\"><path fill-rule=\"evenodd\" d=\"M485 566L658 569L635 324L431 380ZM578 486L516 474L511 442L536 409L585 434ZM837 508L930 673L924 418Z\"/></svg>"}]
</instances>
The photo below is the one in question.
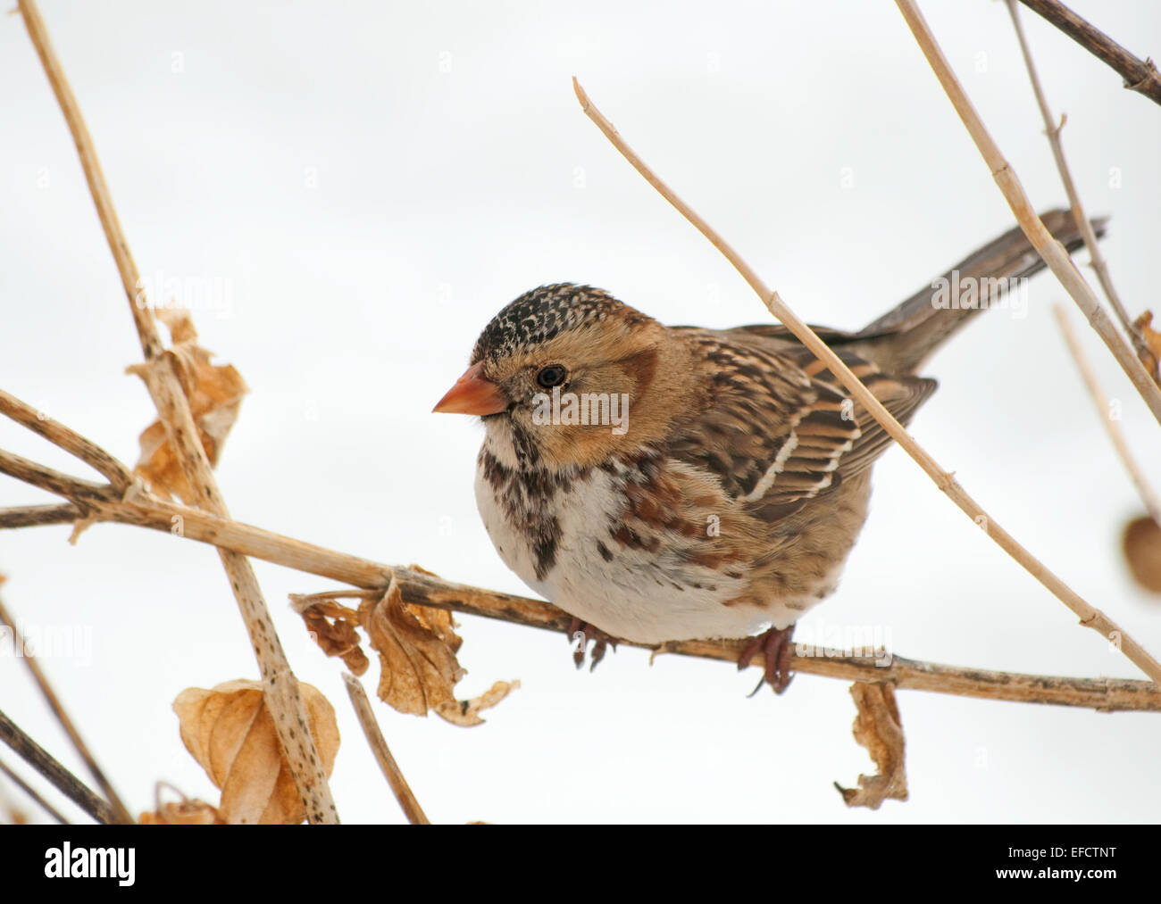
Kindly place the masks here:
<instances>
[{"instance_id":1,"label":"narrow curled dry leaf hanging below the branch, right of bird's feet","mask_svg":"<svg viewBox=\"0 0 1161 904\"><path fill-rule=\"evenodd\" d=\"M854 717L854 739L867 748L871 759L879 767L879 774L859 775L858 788L843 788L838 782L835 782L835 787L848 807L878 810L888 797L906 801L906 743L895 703L895 686L857 681L851 685L851 696L859 709Z\"/></svg>"}]
</instances>

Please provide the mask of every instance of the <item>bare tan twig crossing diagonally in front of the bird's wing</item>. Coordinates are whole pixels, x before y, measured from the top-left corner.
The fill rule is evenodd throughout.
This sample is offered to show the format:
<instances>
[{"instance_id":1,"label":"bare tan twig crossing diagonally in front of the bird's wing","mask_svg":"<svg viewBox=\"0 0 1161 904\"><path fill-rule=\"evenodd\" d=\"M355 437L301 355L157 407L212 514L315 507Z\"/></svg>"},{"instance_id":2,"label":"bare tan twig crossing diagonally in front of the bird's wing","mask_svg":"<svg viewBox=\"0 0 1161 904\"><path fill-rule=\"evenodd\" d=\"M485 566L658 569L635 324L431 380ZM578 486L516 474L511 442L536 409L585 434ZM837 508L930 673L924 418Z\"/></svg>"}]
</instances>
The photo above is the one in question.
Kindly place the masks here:
<instances>
[{"instance_id":1,"label":"bare tan twig crossing diagonally in front of the bird's wing","mask_svg":"<svg viewBox=\"0 0 1161 904\"><path fill-rule=\"evenodd\" d=\"M670 204L677 208L682 216L688 219L690 223L692 223L702 236L709 239L713 246L717 248L717 251L720 251L731 265L734 265L734 268L750 284L750 288L752 288L758 294L758 297L765 302L770 312L777 317L792 333L794 333L802 345L814 352L815 356L822 361L830 373L834 374L850 391L854 400L866 408L867 412L880 425L882 425L882 428L887 432L887 434L918 463L918 465L935 482L936 486L946 493L947 497L956 502L956 505L958 505L968 518L982 527L988 536L991 537L1005 552L1008 552L1009 556L1016 559L1016 562L1018 562L1033 578L1047 587L1053 595L1057 596L1057 599L1072 609L1080 617L1081 624L1086 628L1091 628L1095 631L1098 631L1102 636L1117 644L1122 652L1137 664L1141 671L1144 671L1154 681L1161 682L1161 664L1149 656L1149 653L1146 652L1140 644L1125 634L1125 631L1122 630L1103 612L1086 602L1075 591L1073 591L1059 577L1050 571L1044 563L1016 542L1015 537L1001 528L1000 525L997 525L991 516L988 515L980 507L980 505L964 491L964 489L956 482L952 473L940 468L936 460L932 458L917 442L915 442L907 431L903 429L902 425L900 425L900 422L892 417L890 412L882 406L882 403L880 403L879 399L877 399L871 391L863 385L863 382L851 373L850 368L843 363L838 355L836 355L830 347L827 346L827 343L823 342L815 334L815 332L806 325L806 323L799 319L798 314L786 306L778 292L770 289L762 281L762 277L759 277L758 274L742 259L742 256L734 251L734 248L730 247L730 245L688 204L682 201L682 198L678 197L640 157L637 157L633 149L630 149L628 144L625 143L625 139L616 132L616 129L613 128L612 123L610 123L608 120L601 115L600 110L593 106L592 101L589 100L589 95L584 93L584 89L576 79L572 80L572 86L585 115L587 115L589 118L597 124L597 128L604 132L605 137L608 138L613 146L625 156L625 159L628 160L642 176L644 176L649 185L656 188ZM1039 219L1037 222L1039 223ZM1055 243L1055 239L1052 239L1052 241ZM1057 247L1059 247L1059 245L1057 245ZM1156 389L1156 386L1154 386L1154 389Z\"/></svg>"}]
</instances>

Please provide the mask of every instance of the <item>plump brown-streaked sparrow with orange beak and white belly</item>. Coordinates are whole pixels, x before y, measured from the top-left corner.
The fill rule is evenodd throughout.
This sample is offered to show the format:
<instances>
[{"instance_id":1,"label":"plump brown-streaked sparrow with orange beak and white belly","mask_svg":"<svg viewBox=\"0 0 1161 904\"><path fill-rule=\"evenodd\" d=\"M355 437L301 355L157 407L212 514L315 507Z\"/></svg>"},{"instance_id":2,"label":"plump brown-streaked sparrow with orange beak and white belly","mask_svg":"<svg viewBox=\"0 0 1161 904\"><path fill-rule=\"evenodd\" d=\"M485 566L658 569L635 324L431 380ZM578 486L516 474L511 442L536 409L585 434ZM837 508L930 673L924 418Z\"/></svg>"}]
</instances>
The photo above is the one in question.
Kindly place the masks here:
<instances>
[{"instance_id":1,"label":"plump brown-streaked sparrow with orange beak and white belly","mask_svg":"<svg viewBox=\"0 0 1161 904\"><path fill-rule=\"evenodd\" d=\"M1069 212L1044 220L1069 251L1082 244ZM1016 229L864 328L814 330L906 425L936 390L916 374L931 353L1043 266ZM434 411L483 421L484 527L583 625L578 665L594 632L749 638L740 667L762 651L777 693L794 623L834 593L890 446L785 327L664 326L574 283L496 314Z\"/></svg>"}]
</instances>

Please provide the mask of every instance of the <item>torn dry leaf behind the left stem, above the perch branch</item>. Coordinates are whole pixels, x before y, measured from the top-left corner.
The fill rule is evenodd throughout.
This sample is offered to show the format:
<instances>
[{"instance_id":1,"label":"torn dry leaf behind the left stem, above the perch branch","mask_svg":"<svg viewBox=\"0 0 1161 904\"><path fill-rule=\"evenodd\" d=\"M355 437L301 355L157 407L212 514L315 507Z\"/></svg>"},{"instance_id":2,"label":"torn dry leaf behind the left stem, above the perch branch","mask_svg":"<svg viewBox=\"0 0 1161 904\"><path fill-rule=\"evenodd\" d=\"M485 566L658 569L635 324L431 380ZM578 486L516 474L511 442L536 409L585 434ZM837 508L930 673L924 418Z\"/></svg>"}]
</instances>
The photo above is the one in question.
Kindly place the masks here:
<instances>
[{"instance_id":1,"label":"torn dry leaf behind the left stem, above the perch branch","mask_svg":"<svg viewBox=\"0 0 1161 904\"><path fill-rule=\"evenodd\" d=\"M154 313L170 328L172 347L163 354L176 366L202 448L210 464L216 465L225 437L238 419L241 397L248 389L233 367L210 363L212 353L197 345L197 332L189 311L163 308ZM157 367L156 362L134 364L128 373L149 382L150 368L153 367ZM186 502L194 501L186 475L170 446L165 425L160 420L153 421L138 442L140 457L135 473L144 478L154 492L171 493Z\"/></svg>"}]
</instances>

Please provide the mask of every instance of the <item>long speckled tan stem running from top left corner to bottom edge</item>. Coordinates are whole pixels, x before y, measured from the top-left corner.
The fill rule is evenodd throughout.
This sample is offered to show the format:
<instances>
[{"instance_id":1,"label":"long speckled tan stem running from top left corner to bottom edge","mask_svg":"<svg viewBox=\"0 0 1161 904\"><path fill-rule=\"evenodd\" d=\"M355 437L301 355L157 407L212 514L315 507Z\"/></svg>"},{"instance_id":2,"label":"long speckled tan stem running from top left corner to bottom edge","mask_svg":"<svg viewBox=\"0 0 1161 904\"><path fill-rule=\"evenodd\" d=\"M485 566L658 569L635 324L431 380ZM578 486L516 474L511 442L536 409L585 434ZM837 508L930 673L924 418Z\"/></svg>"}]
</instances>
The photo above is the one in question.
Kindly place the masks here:
<instances>
[{"instance_id":1,"label":"long speckled tan stem running from top left corner to bottom edge","mask_svg":"<svg viewBox=\"0 0 1161 904\"><path fill-rule=\"evenodd\" d=\"M214 470L199 439L189 402L181 388L178 366L173 356L165 352L153 312L149 308L149 299L140 289L137 265L121 229L109 187L96 157L96 147L85 124L80 106L52 49L35 0L19 0L19 2L28 35L72 132L98 216L129 299L129 309L146 362L142 373L145 386L165 425L168 441L181 463L199 506L228 516L225 501L218 491ZM338 813L326 774L323 772L323 760L318 755L313 738L307 730L307 710L298 693L298 682L282 650L254 570L236 552L222 549L219 556L238 601L251 646L258 658L266 706L274 717L275 731L295 787L307 804L308 818L311 823L337 823Z\"/></svg>"}]
</instances>

